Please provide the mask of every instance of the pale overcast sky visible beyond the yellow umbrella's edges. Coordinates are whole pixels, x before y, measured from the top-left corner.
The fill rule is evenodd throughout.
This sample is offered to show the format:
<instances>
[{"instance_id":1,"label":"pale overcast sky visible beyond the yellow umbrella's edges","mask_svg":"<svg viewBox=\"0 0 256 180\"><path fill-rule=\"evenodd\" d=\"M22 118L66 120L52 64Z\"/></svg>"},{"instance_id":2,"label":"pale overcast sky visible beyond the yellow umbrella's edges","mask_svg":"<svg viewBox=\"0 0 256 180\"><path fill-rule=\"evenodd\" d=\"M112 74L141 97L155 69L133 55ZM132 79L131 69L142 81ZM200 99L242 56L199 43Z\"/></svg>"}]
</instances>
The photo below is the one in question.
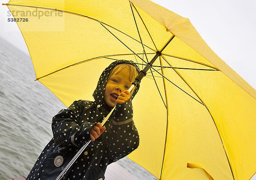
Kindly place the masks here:
<instances>
[{"instance_id":1,"label":"pale overcast sky visible beyond the yellow umbrella's edges","mask_svg":"<svg viewBox=\"0 0 256 180\"><path fill-rule=\"evenodd\" d=\"M152 1L189 18L209 47L256 89L256 0ZM17 24L7 22L7 11L0 5L0 37L28 54Z\"/></svg>"}]
</instances>

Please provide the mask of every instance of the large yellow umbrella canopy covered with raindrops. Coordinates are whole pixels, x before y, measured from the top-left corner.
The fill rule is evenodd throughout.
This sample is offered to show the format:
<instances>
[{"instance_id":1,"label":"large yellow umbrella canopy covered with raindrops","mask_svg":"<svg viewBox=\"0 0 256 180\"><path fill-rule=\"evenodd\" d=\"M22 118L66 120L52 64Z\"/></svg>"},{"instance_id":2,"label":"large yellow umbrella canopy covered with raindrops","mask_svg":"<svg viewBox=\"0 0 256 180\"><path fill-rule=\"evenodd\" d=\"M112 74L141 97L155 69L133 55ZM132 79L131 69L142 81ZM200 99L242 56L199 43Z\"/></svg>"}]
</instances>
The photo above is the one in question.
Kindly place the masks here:
<instances>
[{"instance_id":1,"label":"large yellow umbrella canopy covered with raindrops","mask_svg":"<svg viewBox=\"0 0 256 180\"><path fill-rule=\"evenodd\" d=\"M188 19L148 0L11 0L36 78L66 106L93 100L116 59L140 68L139 148L128 155L161 180L246 180L256 172L256 91ZM221 42L220 42L221 43Z\"/></svg>"}]
</instances>

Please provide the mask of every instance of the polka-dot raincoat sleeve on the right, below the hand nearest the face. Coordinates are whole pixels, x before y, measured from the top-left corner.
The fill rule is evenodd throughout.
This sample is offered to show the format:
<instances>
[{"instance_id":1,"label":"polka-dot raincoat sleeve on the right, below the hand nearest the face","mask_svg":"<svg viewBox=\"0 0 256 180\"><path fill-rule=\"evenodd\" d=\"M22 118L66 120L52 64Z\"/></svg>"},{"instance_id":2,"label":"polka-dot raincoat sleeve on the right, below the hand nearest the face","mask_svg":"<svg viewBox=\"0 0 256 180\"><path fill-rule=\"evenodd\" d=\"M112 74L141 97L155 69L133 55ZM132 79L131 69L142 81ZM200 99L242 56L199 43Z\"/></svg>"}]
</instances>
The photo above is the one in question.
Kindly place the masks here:
<instances>
[{"instance_id":1,"label":"polka-dot raincoat sleeve on the right, below the hand nearest the face","mask_svg":"<svg viewBox=\"0 0 256 180\"><path fill-rule=\"evenodd\" d=\"M139 134L133 121L131 100L118 104L109 124L108 149L113 162L124 158L139 146Z\"/></svg>"}]
</instances>

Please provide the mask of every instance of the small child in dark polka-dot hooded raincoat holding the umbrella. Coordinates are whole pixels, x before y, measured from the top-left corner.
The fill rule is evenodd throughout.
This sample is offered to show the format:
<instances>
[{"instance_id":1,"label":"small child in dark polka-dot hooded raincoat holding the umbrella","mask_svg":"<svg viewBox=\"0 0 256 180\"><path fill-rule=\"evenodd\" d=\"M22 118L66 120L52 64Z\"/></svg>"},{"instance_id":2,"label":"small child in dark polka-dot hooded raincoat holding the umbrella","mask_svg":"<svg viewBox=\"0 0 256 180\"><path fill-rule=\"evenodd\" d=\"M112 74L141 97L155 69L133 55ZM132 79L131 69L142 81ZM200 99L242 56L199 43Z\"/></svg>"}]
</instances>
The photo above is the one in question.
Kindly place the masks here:
<instances>
[{"instance_id":1,"label":"small child in dark polka-dot hooded raincoat holding the umbrella","mask_svg":"<svg viewBox=\"0 0 256 180\"><path fill-rule=\"evenodd\" d=\"M65 174L67 180L103 180L107 166L139 146L128 91L139 70L131 61L115 61L99 78L95 101L74 101L52 118L53 138L39 156L27 180L55 180L79 149L92 142ZM117 107L102 127L103 119ZM103 133L102 133L103 132Z\"/></svg>"}]
</instances>

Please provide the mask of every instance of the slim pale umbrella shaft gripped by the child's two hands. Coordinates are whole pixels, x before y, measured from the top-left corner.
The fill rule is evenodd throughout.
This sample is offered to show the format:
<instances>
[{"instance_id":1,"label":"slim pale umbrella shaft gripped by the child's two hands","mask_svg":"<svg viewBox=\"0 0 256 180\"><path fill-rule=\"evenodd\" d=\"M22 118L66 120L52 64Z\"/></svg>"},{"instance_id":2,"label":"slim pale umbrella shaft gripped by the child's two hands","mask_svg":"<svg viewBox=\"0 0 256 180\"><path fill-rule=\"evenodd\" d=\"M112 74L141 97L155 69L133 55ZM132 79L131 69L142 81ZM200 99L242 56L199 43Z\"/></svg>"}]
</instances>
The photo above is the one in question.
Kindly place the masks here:
<instances>
[{"instance_id":1,"label":"slim pale umbrella shaft gripped by the child's two hands","mask_svg":"<svg viewBox=\"0 0 256 180\"><path fill-rule=\"evenodd\" d=\"M133 90L133 88L135 87L134 84L131 85L131 87L129 88L129 92L131 93L131 91ZM108 121L108 118L111 116L111 114L113 113L113 111L116 109L116 106L113 107L113 109L111 110L110 113L108 113L107 117L105 119L103 119L102 121L102 126ZM64 177L64 175L66 174L66 172L68 171L68 169L70 169L70 167L73 165L73 163L76 161L76 159L82 154L82 152L84 151L84 149L89 145L89 143L91 142L91 140L87 141L87 143L84 144L84 146L81 147L81 149L79 150L79 152L76 153L76 155L74 156L74 158L72 158L72 160L70 160L70 162L68 163L68 165L63 169L63 171L61 172L61 174L58 175L58 177L56 178L56 180L61 180L62 177Z\"/></svg>"}]
</instances>

